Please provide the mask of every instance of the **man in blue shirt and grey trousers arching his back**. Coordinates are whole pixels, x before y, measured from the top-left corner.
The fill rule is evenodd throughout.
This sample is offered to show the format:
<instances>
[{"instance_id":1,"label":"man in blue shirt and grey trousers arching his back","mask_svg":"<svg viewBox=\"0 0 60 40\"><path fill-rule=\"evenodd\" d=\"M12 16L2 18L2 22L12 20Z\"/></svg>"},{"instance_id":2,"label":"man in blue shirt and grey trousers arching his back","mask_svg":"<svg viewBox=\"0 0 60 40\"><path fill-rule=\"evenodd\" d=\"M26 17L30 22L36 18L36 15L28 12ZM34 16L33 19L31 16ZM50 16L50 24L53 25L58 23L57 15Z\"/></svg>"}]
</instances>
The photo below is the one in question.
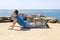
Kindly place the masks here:
<instances>
[{"instance_id":1,"label":"man in blue shirt and grey trousers arching his back","mask_svg":"<svg viewBox=\"0 0 60 40\"><path fill-rule=\"evenodd\" d=\"M9 30L13 30L16 22L21 25L21 28L25 28L25 27L36 27L37 24L39 24L39 26L41 25L45 25L44 23L29 23L28 21L24 21L22 19L22 17L18 14L18 10L14 10L13 11L13 15L14 15L14 20L13 20L13 24L10 26L11 28L9 28Z\"/></svg>"}]
</instances>

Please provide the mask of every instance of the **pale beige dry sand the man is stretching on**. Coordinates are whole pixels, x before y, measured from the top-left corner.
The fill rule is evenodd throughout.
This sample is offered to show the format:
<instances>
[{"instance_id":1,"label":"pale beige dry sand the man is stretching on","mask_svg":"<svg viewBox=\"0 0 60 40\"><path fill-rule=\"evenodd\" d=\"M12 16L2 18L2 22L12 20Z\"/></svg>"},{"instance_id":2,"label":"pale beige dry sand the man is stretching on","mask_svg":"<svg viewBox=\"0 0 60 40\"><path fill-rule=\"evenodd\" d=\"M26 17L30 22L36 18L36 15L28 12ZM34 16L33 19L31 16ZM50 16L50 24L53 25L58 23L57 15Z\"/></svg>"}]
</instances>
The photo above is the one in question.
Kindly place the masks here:
<instances>
[{"instance_id":1,"label":"pale beige dry sand the man is stretching on","mask_svg":"<svg viewBox=\"0 0 60 40\"><path fill-rule=\"evenodd\" d=\"M50 29L8 30L12 23L0 23L0 40L60 40L60 24L48 23ZM19 26L16 24L16 26Z\"/></svg>"}]
</instances>

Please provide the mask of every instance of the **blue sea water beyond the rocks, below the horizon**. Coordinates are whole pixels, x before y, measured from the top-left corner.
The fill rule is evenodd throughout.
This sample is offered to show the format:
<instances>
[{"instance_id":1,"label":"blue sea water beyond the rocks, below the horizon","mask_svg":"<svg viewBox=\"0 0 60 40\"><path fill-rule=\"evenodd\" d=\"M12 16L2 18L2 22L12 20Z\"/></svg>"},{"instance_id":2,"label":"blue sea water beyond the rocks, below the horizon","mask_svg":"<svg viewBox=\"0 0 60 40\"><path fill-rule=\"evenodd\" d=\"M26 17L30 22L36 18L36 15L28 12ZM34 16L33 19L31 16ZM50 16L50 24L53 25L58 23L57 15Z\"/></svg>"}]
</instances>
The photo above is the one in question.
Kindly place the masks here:
<instances>
[{"instance_id":1,"label":"blue sea water beyond the rocks, below the horizon","mask_svg":"<svg viewBox=\"0 0 60 40\"><path fill-rule=\"evenodd\" d=\"M30 9L30 10L19 10L25 14L42 14L49 17L54 17L60 20L60 9ZM12 10L0 10L0 17L10 16Z\"/></svg>"}]
</instances>

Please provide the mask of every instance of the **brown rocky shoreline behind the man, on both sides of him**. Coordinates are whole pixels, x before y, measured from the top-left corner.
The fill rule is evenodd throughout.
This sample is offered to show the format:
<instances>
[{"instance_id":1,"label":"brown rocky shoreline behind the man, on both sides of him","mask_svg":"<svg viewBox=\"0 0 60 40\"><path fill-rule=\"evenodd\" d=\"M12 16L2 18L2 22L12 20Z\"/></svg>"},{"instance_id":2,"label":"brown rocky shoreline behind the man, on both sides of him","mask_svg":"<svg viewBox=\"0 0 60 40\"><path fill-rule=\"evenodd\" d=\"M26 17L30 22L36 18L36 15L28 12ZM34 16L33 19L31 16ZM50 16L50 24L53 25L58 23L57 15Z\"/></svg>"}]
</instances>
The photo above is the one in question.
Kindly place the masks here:
<instances>
[{"instance_id":1,"label":"brown rocky shoreline behind the man, on both sides of him","mask_svg":"<svg viewBox=\"0 0 60 40\"><path fill-rule=\"evenodd\" d=\"M60 23L60 20L56 19L55 17L48 17L45 15L42 15L41 13L39 13L37 15L35 15L35 14L29 15L29 14L20 12L19 15L23 18L23 20L27 20L28 22L34 22L35 18L38 18L39 21L41 19L41 21L44 21L46 23ZM11 14L10 17L0 17L0 22L12 22L13 19L14 19L13 15Z\"/></svg>"}]
</instances>

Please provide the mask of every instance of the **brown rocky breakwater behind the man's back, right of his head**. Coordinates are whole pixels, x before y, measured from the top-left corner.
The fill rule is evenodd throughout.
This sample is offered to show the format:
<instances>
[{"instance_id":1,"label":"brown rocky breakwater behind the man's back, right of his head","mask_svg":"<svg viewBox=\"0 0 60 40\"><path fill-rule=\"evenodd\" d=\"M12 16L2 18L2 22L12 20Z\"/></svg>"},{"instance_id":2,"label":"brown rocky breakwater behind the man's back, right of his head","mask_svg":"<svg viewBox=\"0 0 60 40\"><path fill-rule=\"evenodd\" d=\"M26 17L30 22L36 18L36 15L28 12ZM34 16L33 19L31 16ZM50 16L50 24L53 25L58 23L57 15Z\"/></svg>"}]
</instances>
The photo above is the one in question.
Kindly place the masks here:
<instances>
[{"instance_id":1,"label":"brown rocky breakwater behind the man's back, right of his head","mask_svg":"<svg viewBox=\"0 0 60 40\"><path fill-rule=\"evenodd\" d=\"M47 23L60 23L60 21L54 17L48 17L48 16L44 16L41 13L35 15L35 14L25 14L25 13L19 13L19 15L21 15L21 17L24 20L27 20L29 22L35 22L35 18L37 18L37 20L39 21L44 21ZM13 16L11 16L12 20L13 20Z\"/></svg>"}]
</instances>

